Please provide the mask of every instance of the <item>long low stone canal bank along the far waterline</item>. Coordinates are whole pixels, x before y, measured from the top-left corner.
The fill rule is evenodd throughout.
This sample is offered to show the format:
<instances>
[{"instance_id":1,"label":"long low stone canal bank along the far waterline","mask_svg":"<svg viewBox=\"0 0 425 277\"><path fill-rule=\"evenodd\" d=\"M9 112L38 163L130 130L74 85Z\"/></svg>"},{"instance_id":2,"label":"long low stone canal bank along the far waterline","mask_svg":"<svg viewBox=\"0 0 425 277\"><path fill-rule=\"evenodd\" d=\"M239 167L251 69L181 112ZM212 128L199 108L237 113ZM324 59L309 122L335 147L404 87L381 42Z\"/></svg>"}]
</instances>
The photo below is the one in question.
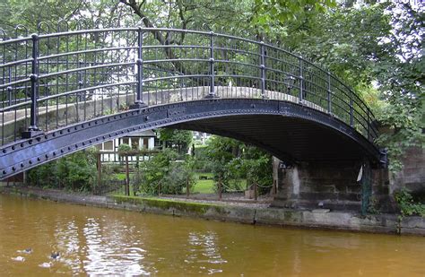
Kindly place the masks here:
<instances>
[{"instance_id":1,"label":"long low stone canal bank along the far waterline","mask_svg":"<svg viewBox=\"0 0 425 277\"><path fill-rule=\"evenodd\" d=\"M3 194L22 195L54 202L75 203L109 209L134 212L150 212L172 216L201 218L217 221L234 221L306 229L341 229L374 233L425 236L425 219L396 214L361 216L351 212L326 210L299 211L252 205L249 203L195 202L167 198L134 197L123 195L96 196L68 193L59 190L43 190L34 187L7 187Z\"/></svg>"}]
</instances>

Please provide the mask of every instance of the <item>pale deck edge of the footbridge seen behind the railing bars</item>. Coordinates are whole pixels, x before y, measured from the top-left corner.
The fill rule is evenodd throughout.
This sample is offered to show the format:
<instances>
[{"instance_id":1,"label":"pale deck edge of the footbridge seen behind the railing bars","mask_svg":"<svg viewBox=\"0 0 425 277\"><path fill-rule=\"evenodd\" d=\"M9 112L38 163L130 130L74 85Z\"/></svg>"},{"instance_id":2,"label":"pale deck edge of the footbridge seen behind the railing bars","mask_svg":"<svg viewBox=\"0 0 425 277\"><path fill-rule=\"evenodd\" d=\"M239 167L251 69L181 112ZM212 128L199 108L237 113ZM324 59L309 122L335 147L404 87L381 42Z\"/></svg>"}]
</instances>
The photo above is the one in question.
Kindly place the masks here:
<instances>
[{"instance_id":1,"label":"pale deck edge of the footbridge seen behind the railing bars","mask_svg":"<svg viewBox=\"0 0 425 277\"><path fill-rule=\"evenodd\" d=\"M149 106L178 103L182 101L204 100L208 95L210 87L193 87L172 90L146 91L143 95L144 103ZM314 108L318 111L329 114L325 108L310 102L308 100L299 101L299 97L291 94L280 93L276 91L265 91L264 97L262 91L256 88L216 86L216 96L220 99L265 99L265 100L283 100L292 103L301 103L308 108ZM93 97L91 97L93 98ZM80 100L69 104L39 105L39 126L45 132L57 128L90 120L95 117L116 113L119 110L126 110L134 103L134 95L124 94L118 97L96 96L95 100ZM332 117L337 115L330 114ZM19 134L25 131L30 121L30 108L18 109L4 112L0 118L0 124L3 126L2 135L4 143L11 143L13 139L19 138Z\"/></svg>"}]
</instances>

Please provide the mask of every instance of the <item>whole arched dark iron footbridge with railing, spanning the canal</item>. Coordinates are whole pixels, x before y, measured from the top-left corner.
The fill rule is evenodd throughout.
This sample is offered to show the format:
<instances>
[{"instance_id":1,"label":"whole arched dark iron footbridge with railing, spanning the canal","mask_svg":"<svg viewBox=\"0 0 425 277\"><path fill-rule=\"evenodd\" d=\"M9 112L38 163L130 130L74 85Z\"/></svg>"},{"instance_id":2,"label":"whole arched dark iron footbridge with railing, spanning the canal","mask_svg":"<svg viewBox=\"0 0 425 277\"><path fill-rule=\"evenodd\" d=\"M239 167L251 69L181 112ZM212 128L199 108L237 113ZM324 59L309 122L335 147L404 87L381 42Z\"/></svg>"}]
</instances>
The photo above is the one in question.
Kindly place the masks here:
<instances>
[{"instance_id":1,"label":"whole arched dark iron footbridge with railing, spanning the canal","mask_svg":"<svg viewBox=\"0 0 425 277\"><path fill-rule=\"evenodd\" d=\"M0 179L164 126L233 137L287 162L382 162L364 101L282 48L201 30L2 32Z\"/></svg>"}]
</instances>

